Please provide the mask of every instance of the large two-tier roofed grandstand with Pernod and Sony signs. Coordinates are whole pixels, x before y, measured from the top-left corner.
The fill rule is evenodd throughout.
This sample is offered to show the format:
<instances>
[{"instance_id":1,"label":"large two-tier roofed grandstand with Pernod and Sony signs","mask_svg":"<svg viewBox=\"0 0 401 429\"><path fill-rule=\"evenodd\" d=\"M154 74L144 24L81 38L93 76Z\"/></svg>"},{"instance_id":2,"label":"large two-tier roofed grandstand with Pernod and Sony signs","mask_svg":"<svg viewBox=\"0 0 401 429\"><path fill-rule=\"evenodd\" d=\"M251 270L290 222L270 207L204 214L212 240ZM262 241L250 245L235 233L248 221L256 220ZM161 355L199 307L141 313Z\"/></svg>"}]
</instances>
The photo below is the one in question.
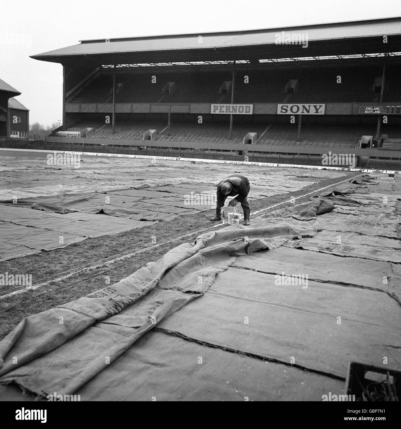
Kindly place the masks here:
<instances>
[{"instance_id":1,"label":"large two-tier roofed grandstand with Pernod and Sony signs","mask_svg":"<svg viewBox=\"0 0 401 429\"><path fill-rule=\"evenodd\" d=\"M399 28L383 18L83 40L33 55L64 77L63 125L36 148L311 165L332 148L400 169Z\"/></svg>"}]
</instances>

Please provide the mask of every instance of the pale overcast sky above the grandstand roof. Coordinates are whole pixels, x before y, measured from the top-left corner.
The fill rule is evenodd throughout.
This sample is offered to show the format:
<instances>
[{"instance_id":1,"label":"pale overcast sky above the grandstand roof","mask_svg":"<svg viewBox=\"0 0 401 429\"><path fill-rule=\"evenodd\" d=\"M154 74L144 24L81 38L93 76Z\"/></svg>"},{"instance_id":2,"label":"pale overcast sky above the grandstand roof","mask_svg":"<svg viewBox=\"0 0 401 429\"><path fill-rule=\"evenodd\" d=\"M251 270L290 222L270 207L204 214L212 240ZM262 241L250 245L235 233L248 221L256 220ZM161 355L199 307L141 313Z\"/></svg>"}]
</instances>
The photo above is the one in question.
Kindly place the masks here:
<instances>
[{"instance_id":1,"label":"pale overcast sky above the grandstand roof","mask_svg":"<svg viewBox=\"0 0 401 429\"><path fill-rule=\"evenodd\" d=\"M62 115L62 66L30 55L83 39L401 16L401 0L14 0L0 10L0 79L22 93L17 99L30 109L31 124L50 125ZM11 43L18 34L24 43Z\"/></svg>"}]
</instances>

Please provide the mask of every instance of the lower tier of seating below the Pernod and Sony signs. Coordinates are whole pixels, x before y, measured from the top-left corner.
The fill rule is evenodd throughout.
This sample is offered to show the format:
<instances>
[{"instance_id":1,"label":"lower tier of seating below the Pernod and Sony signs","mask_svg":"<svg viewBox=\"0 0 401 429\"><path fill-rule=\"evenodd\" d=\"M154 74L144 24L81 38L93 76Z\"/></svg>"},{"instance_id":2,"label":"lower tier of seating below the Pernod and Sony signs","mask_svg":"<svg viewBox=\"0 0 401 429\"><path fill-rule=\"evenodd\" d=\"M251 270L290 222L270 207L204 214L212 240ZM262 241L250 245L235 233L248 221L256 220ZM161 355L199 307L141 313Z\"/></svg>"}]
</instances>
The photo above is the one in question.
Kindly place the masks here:
<instances>
[{"instance_id":1,"label":"lower tier of seating below the Pernod and Sony signs","mask_svg":"<svg viewBox=\"0 0 401 429\"><path fill-rule=\"evenodd\" d=\"M115 133L112 133L112 124L102 121L84 121L69 127L66 131L82 131L87 127L94 128L90 138L104 139L143 139L147 130L157 130L156 141L189 142L229 144L242 143L247 133L257 133L258 145L285 145L305 147L327 148L357 148L362 135L376 133L372 127L363 125L310 125L301 130L300 142L296 142L298 129L289 124L234 124L232 139L229 139L229 124L188 124L185 122L172 122L170 130L167 130L166 122L141 121L118 122L115 125ZM268 127L268 130L263 132ZM401 138L401 127L383 126L381 134L387 134L389 139Z\"/></svg>"}]
</instances>

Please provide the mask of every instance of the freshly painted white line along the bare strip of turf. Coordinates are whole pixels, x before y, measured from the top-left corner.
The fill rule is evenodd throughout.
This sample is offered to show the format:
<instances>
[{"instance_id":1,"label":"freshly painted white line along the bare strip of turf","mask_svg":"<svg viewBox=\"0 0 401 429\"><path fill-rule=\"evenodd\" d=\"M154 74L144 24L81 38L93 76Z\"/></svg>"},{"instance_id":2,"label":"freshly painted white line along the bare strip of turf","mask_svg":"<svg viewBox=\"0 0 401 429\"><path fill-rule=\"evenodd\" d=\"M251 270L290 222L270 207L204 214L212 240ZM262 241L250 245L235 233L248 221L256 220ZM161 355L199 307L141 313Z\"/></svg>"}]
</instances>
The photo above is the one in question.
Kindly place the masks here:
<instances>
[{"instance_id":1,"label":"freshly painted white line along the bare strip of turf","mask_svg":"<svg viewBox=\"0 0 401 429\"><path fill-rule=\"evenodd\" d=\"M362 175L364 175L364 174L365 174L365 173L359 174L359 175L357 175L357 176L353 176L353 177L352 177L352 179L354 179L354 178L356 178L356 177L359 177L359 176L362 176ZM319 192L319 191L321 191L321 190L323 190L323 189L327 189L328 187L333 187L333 186L336 186L336 185L338 185L338 184L340 184L340 183L344 183L344 182L347 182L347 181L350 181L350 180L351 180L351 178L347 178L347 179L345 179L345 180L343 180L343 181L341 181L341 182L337 182L337 183L332 184L332 185L329 185L329 186L324 186L324 187L322 187L322 188L320 188L320 189L317 189L317 190L314 190L314 191L312 191L312 192L306 193L305 195L297 196L297 197L295 197L295 199L303 198L303 197L305 197L305 196L311 195L312 193ZM293 199L289 199L289 200L286 200L286 201L283 201L283 202L279 202L279 203L274 204L274 205L271 205L271 206L269 206L269 207L262 208L261 210L257 210L257 211L255 211L255 212L253 212L253 213L252 213L252 215L256 215L256 213L260 213L261 211L265 211L265 210L268 210L269 208L274 208L274 207L277 207L278 205L286 204L287 202L292 202L292 201L293 201ZM82 268L81 270L78 270L78 271L76 271L76 272L72 272L72 273L69 273L69 274L63 275L63 276L61 276L61 277L55 278L54 280L48 280L48 281L45 281L45 282L43 282L43 283L36 284L36 285L34 285L34 286L26 287L25 289L15 290L14 292L11 292L11 293L8 293L8 294L6 294L6 295L2 295L2 296L0 296L0 299L7 298L7 297L9 297L9 296L18 295L18 294L20 294L20 293L24 293L24 292L27 292L27 291L29 291L29 290L35 290L35 289L38 289L39 287L45 286L46 284L49 284L49 283L51 283L51 282L53 282L53 281L61 281L61 280L65 280L66 278L69 278L69 277L71 277L72 275L75 275L75 274L79 274L80 272L88 271L88 270L90 270L90 269L100 268L100 267L103 267L103 266L112 265L113 263L115 263L115 262L117 262L117 261L120 261L120 260L123 260L123 259L125 259L125 258L129 258L129 257L134 256L134 255L136 255L136 254L139 254L139 253L142 253L142 252L145 252L145 251L151 250L151 249L155 249L155 248L157 248L157 247L159 247L159 246L163 246L163 245L169 244L169 243L171 243L171 242L175 242L175 241L181 240L181 239L183 239L183 238L185 238L185 237L192 236L193 234L197 234L197 233L201 233L201 232L204 232L204 231L210 230L211 228L220 227L221 225L223 225L223 224L217 224L217 225L216 225L216 224L214 224L214 225L211 225L210 227L204 228L204 229L202 229L202 230L198 230L198 231L195 231L195 232L193 232L193 233L185 234L184 236L177 237L176 239L169 240L168 242L159 243L159 244L157 244L157 245L154 245L154 246L151 246L151 247L147 247L147 248L145 248L145 249L141 249L141 250L136 251L136 252L133 252L133 253L128 253L128 254L125 254L125 255L119 256L119 257L117 257L117 258L115 258L115 259L112 259L112 260L110 260L110 261L107 261L107 262L105 262L105 263L100 263L100 264L96 264L96 265L92 265L92 266L84 267L84 268Z\"/></svg>"}]
</instances>

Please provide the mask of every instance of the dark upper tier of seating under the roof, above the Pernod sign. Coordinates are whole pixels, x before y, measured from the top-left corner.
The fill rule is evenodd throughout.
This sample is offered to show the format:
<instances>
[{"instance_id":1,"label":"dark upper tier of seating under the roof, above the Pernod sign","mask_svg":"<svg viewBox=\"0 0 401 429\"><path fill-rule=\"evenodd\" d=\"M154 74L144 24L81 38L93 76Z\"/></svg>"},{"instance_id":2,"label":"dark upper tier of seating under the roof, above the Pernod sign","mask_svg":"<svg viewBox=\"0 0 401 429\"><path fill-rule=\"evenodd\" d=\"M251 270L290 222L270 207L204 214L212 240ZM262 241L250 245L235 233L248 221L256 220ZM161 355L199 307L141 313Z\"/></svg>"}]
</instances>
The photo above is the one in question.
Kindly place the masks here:
<instances>
[{"instance_id":1,"label":"dark upper tier of seating under the roof, above the Pernod sign","mask_svg":"<svg viewBox=\"0 0 401 429\"><path fill-rule=\"evenodd\" d=\"M235 75L234 103L353 103L375 102L374 80L381 76L376 67L326 69L241 70ZM152 80L155 76L156 82ZM245 78L247 76L247 78ZM339 77L341 76L341 83ZM286 91L290 79L298 80L295 91ZM230 103L231 90L219 92L223 82L232 81L226 72L206 73L119 73L117 103ZM164 91L174 82L171 91ZM87 85L72 103L105 103L112 100L113 79L101 74ZM401 79L389 72L383 101L401 101Z\"/></svg>"}]
</instances>

